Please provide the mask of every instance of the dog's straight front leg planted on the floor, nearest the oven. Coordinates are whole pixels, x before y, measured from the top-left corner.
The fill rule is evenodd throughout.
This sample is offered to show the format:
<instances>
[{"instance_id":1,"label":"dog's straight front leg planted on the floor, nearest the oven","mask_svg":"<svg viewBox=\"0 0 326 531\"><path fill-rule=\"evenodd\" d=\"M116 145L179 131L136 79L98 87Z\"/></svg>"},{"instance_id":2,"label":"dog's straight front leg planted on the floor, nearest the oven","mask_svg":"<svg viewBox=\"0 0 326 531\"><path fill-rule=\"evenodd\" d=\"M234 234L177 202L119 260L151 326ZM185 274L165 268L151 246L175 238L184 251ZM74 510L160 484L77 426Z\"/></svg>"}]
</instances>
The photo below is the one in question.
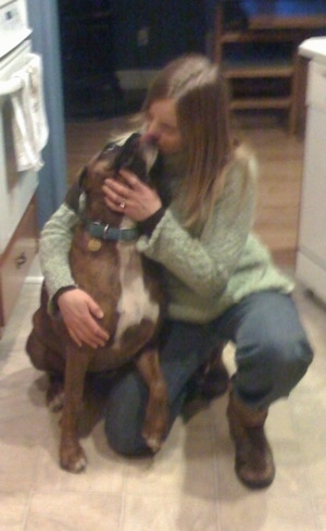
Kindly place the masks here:
<instances>
[{"instance_id":1,"label":"dog's straight front leg planted on the floor, nearest the oven","mask_svg":"<svg viewBox=\"0 0 326 531\"><path fill-rule=\"evenodd\" d=\"M60 465L74 473L82 472L87 465L86 455L78 441L78 419L88 362L88 353L74 347L67 348L64 406L61 420Z\"/></svg>"}]
</instances>

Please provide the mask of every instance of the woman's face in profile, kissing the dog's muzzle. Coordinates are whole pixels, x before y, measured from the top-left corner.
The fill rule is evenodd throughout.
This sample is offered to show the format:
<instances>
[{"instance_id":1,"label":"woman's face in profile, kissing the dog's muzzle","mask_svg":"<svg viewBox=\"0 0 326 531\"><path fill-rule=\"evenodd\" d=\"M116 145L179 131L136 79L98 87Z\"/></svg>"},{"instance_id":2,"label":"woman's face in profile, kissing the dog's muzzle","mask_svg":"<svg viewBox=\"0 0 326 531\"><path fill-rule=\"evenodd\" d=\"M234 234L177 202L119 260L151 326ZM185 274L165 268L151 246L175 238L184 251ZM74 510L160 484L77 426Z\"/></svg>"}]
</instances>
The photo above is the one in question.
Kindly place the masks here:
<instances>
[{"instance_id":1,"label":"woman's face in profile, kissing the dog's muzzle","mask_svg":"<svg viewBox=\"0 0 326 531\"><path fill-rule=\"evenodd\" d=\"M154 101L146 113L145 141L153 141L163 155L181 149L181 136L172 98Z\"/></svg>"}]
</instances>

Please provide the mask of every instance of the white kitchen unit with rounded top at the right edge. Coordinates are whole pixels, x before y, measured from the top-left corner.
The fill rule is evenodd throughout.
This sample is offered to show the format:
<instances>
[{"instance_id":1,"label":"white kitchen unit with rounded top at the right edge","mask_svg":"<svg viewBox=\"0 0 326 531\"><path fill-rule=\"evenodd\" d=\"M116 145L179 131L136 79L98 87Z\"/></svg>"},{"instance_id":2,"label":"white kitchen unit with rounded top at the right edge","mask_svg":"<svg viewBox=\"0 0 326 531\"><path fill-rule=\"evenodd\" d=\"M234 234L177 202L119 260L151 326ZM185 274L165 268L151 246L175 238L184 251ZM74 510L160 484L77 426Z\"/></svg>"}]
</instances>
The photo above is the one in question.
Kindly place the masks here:
<instances>
[{"instance_id":1,"label":"white kitchen unit with rounded top at the right edge","mask_svg":"<svg viewBox=\"0 0 326 531\"><path fill-rule=\"evenodd\" d=\"M326 301L326 37L305 40L299 53L310 62L296 274Z\"/></svg>"}]
</instances>

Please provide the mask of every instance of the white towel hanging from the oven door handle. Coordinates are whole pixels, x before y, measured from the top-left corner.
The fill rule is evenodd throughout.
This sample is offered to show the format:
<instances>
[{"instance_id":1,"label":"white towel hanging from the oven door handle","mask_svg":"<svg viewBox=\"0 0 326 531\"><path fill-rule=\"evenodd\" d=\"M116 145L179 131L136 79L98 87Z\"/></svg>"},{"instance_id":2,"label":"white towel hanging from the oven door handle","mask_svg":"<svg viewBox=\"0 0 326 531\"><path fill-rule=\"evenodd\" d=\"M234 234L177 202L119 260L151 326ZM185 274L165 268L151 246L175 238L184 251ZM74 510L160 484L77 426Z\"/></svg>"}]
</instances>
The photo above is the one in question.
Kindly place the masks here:
<instances>
[{"instance_id":1,"label":"white towel hanging from the oven door handle","mask_svg":"<svg viewBox=\"0 0 326 531\"><path fill-rule=\"evenodd\" d=\"M41 150L49 137L40 55L28 53L26 65L15 72L13 77L18 77L22 85L22 88L11 96L17 171L38 171L43 165Z\"/></svg>"}]
</instances>

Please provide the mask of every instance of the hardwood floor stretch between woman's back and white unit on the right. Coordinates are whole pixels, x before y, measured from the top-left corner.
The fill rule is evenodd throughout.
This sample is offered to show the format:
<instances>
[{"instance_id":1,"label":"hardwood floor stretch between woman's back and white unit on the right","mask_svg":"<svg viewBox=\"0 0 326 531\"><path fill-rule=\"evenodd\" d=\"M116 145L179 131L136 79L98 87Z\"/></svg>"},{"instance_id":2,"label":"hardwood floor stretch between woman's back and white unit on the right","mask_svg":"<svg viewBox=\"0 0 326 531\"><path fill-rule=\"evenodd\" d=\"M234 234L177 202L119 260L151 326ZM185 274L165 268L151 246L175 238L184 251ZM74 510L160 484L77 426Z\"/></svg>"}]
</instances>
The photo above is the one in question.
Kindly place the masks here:
<instances>
[{"instance_id":1,"label":"hardwood floor stretch between woman's back and white unit on the right","mask_svg":"<svg viewBox=\"0 0 326 531\"><path fill-rule=\"evenodd\" d=\"M304 141L289 136L277 120L241 120L241 133L260 163L254 231L271 248L275 261L294 269Z\"/></svg>"}]
</instances>

